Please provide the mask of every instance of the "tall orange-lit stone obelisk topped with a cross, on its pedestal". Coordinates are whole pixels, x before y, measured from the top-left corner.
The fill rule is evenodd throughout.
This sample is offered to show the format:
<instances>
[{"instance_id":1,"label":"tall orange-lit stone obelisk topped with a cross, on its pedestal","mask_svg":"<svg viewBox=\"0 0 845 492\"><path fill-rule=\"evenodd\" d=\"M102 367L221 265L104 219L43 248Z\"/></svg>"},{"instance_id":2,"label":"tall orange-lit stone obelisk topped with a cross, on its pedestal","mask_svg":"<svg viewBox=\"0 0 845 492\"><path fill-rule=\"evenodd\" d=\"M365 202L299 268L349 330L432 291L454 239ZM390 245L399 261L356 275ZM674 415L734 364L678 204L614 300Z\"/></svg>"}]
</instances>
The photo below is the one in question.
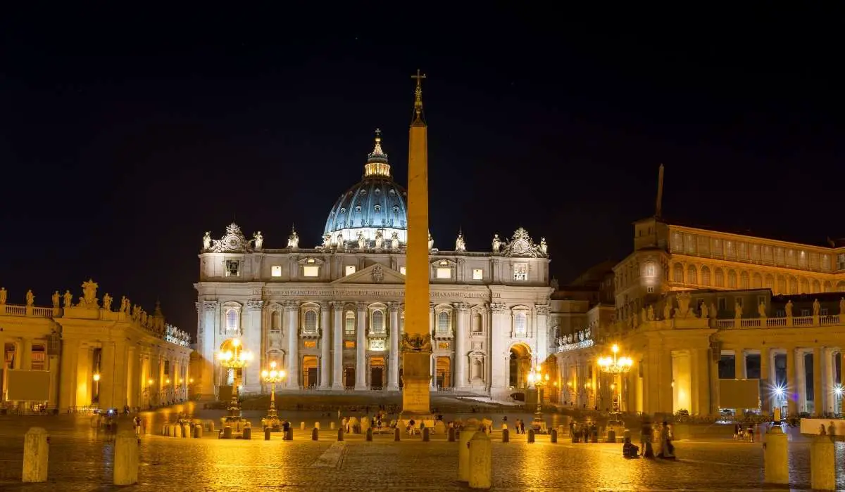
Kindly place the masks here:
<instances>
[{"instance_id":1,"label":"tall orange-lit stone obelisk topped with a cross, on its pedestal","mask_svg":"<svg viewBox=\"0 0 845 492\"><path fill-rule=\"evenodd\" d=\"M431 414L431 333L428 326L428 127L423 117L423 78L417 70L408 143L408 242L405 335L402 339L402 416Z\"/></svg>"}]
</instances>

